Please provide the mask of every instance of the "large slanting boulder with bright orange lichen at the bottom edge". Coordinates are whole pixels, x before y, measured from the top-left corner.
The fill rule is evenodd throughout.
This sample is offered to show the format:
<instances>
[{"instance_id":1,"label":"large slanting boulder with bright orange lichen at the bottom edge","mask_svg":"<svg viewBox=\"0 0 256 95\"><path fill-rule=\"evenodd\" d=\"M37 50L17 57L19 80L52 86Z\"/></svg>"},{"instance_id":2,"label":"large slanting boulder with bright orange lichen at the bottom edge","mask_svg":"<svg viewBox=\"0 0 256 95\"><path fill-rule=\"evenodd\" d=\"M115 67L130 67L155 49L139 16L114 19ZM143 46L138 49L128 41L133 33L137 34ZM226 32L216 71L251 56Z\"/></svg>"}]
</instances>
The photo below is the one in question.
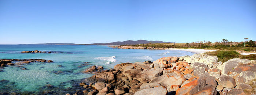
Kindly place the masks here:
<instances>
[{"instance_id":1,"label":"large slanting boulder with bright orange lichen at the bottom edge","mask_svg":"<svg viewBox=\"0 0 256 95\"><path fill-rule=\"evenodd\" d=\"M192 95L202 90L206 86L205 79L197 79L178 88L176 95Z\"/></svg>"}]
</instances>

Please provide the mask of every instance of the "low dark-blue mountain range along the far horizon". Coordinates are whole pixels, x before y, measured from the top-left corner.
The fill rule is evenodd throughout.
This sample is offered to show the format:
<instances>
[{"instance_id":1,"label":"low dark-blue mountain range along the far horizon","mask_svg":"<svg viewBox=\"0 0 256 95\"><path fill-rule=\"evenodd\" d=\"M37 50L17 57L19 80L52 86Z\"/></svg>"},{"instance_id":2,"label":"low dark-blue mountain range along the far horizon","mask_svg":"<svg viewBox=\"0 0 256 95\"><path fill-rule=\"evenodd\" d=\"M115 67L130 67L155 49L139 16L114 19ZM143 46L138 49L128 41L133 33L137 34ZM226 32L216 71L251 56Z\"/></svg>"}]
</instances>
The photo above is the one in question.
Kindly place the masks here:
<instances>
[{"instance_id":1,"label":"low dark-blue mountain range along the far horizon","mask_svg":"<svg viewBox=\"0 0 256 95\"><path fill-rule=\"evenodd\" d=\"M22 44L22 45L136 45L136 44L145 44L145 43L174 43L174 42L163 42L163 41L147 41L147 40L138 40L138 41L123 41L123 42L111 42L111 43L91 43L91 44L75 44L75 43L37 43L37 44Z\"/></svg>"}]
</instances>

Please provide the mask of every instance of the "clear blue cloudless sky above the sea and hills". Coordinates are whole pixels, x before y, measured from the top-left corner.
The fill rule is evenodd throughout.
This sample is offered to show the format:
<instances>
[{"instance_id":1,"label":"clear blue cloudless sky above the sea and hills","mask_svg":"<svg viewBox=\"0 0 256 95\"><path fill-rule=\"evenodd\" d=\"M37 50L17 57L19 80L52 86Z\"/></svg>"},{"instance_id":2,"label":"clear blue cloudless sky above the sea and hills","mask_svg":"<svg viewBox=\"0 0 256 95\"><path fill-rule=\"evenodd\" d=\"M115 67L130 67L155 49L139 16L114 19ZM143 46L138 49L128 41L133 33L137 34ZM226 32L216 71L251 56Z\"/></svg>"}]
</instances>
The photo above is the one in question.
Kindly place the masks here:
<instances>
[{"instance_id":1,"label":"clear blue cloudless sky above the sea and hills","mask_svg":"<svg viewBox=\"0 0 256 95\"><path fill-rule=\"evenodd\" d=\"M0 0L0 44L256 41L256 0Z\"/></svg>"}]
</instances>

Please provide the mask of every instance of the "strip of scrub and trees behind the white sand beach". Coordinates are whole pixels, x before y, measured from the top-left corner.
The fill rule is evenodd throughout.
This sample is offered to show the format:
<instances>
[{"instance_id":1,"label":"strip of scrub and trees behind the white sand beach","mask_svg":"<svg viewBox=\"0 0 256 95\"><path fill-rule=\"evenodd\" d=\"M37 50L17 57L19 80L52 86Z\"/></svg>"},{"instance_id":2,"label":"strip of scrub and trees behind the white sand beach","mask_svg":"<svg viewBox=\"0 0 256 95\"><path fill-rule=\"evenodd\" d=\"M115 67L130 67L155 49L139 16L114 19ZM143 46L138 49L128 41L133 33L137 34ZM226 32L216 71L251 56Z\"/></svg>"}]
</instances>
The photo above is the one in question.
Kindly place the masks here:
<instances>
[{"instance_id":1,"label":"strip of scrub and trees behind the white sand beach","mask_svg":"<svg viewBox=\"0 0 256 95\"><path fill-rule=\"evenodd\" d=\"M218 49L218 50L244 50L246 52L256 51L255 41L244 42L229 42L223 39L222 42L192 42L192 43L146 43L137 45L122 45L122 46L143 46L154 48L193 48L193 49Z\"/></svg>"}]
</instances>

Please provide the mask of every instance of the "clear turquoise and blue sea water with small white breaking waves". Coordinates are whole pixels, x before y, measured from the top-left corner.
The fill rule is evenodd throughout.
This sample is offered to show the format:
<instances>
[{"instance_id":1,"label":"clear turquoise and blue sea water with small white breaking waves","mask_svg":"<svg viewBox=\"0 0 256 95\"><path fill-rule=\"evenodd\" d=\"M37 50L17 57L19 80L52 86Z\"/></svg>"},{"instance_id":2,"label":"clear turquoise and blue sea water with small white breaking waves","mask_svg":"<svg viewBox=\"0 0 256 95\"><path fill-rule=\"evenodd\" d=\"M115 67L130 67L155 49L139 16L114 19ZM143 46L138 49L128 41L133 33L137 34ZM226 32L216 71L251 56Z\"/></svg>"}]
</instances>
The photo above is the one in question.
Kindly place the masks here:
<instances>
[{"instance_id":1,"label":"clear turquoise and blue sea water with small white breaking waves","mask_svg":"<svg viewBox=\"0 0 256 95\"><path fill-rule=\"evenodd\" d=\"M63 52L48 53L20 53L27 50ZM93 74L82 73L92 65L103 66L105 69L123 62L144 62L157 60L167 56L193 55L192 52L179 50L134 50L110 49L109 46L84 45L0 45L0 59L45 59L53 62L32 62L23 67L7 66L0 68L0 94L8 92L42 94L49 91L71 91L77 82ZM83 62L90 62L83 66ZM59 67L58 65L62 65ZM82 67L78 67L82 66ZM59 73L58 71L61 71ZM46 87L50 84L53 87ZM45 92L46 91L46 92ZM47 92L48 91L48 92Z\"/></svg>"}]
</instances>

